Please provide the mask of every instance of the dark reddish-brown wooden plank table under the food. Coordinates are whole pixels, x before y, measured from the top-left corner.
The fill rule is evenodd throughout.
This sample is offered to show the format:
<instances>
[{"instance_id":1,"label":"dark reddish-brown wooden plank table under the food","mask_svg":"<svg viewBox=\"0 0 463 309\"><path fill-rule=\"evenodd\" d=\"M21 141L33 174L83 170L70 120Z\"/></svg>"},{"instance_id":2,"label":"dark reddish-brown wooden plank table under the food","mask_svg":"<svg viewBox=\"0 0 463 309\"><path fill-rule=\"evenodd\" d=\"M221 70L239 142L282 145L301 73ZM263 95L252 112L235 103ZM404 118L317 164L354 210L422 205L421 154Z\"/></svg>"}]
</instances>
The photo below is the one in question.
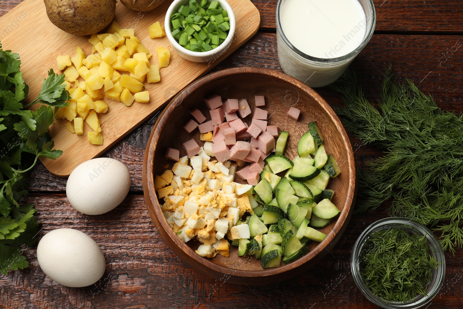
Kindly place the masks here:
<instances>
[{"instance_id":1,"label":"dark reddish-brown wooden plank table under the food","mask_svg":"<svg viewBox=\"0 0 463 309\"><path fill-rule=\"evenodd\" d=\"M0 2L0 14L20 0ZM253 0L261 14L259 32L213 71L236 66L281 70L275 35L276 0ZM374 0L377 23L373 38L351 64L369 99L378 97L389 63L401 79L409 78L440 107L463 112L463 3L459 0ZM40 35L40 34L38 34ZM459 43L458 43L459 42ZM456 45L457 44L457 45ZM4 46L8 48L7 46ZM40 46L38 46L40 48ZM27 82L27 81L26 81ZM332 105L341 103L328 88L317 89ZM212 280L192 270L154 230L142 187L144 149L157 117L135 129L104 156L122 161L131 172L131 191L113 211L88 216L76 213L65 195L66 179L38 164L30 174L39 237L60 227L88 233L106 256L104 277L92 286L66 288L38 267L36 247L25 254L31 267L0 277L1 308L377 308L357 289L350 274L350 253L370 223L387 216L388 205L374 213L355 214L344 236L316 267L299 277L272 285L238 286ZM376 155L352 139L358 163ZM446 278L429 309L463 308L463 249L446 254Z\"/></svg>"}]
</instances>

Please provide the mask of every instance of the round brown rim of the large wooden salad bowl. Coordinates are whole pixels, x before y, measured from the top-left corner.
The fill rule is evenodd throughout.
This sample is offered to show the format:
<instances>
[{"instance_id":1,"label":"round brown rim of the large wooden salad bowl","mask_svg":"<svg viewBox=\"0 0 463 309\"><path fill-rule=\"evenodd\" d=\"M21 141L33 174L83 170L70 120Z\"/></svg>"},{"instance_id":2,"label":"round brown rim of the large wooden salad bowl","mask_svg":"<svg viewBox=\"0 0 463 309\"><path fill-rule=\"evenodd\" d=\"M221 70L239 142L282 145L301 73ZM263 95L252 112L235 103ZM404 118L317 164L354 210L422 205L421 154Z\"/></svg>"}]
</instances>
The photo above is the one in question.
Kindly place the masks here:
<instances>
[{"instance_id":1,"label":"round brown rim of the large wooden salad bowl","mask_svg":"<svg viewBox=\"0 0 463 309\"><path fill-rule=\"evenodd\" d=\"M270 78L282 79L283 81L288 82L294 85L295 87L299 88L300 90L306 92L307 95L310 95L315 101L317 101L320 107L322 107L325 110L325 113L327 113L330 116L330 118L335 123L335 125L338 127L338 130L341 133L341 138L344 142L343 145L347 152L346 163L349 164L348 169L350 170L350 177L348 178L349 187L347 191L347 198L346 198L346 201L344 202L344 208L339 214L338 220L336 221L332 230L326 236L325 240L320 242L312 251L307 253L304 257L297 259L296 261L292 263L289 263L287 265L282 265L279 267L269 268L265 270L264 269L257 270L257 271L238 270L234 268L225 267L222 265L217 265L213 263L211 260L206 259L200 256L199 254L197 254L196 252L194 252L194 250L191 249L186 243L181 241L181 239L175 234L173 229L169 226L169 224L165 220L164 215L162 213L154 187L148 185L149 184L148 180L154 179L154 172L153 172L154 154L155 154L156 146L157 146L157 143L160 137L159 128L163 127L166 124L169 116L174 112L175 107L183 101L183 98L185 96L188 96L192 91L194 91L195 88L198 88L202 85L207 84L211 80L214 80L216 77L241 75L241 74L257 74L257 75L269 76ZM280 275L284 273L285 271L290 271L294 268L299 268L303 264L307 263L309 260L315 258L322 251L325 251L325 254L327 254L328 253L327 246L332 242L332 240L335 240L339 232L341 232L341 234L344 232L344 229L345 229L344 223L346 221L348 222L350 219L350 214L352 213L352 210L353 210L353 207L352 207L353 202L354 202L355 195L356 195L356 189L357 189L356 162L355 162L354 153L352 151L352 147L350 145L349 137L347 135L347 132L344 129L344 126L341 123L341 120L339 120L338 116L336 115L334 110L329 106L329 104L326 103L326 101L312 88L294 79L293 77L287 76L286 74L281 73L276 70L252 68L252 67L230 68L230 69L223 69L223 70L214 72L212 74L204 76L198 79L197 81L191 83L186 88L184 88L181 92L179 92L172 99L172 101L170 101L169 105L163 110L162 114L159 116L158 120L156 121L155 126L153 127L153 130L150 135L150 139L146 146L144 161L143 161L143 187L144 187L143 190L144 190L145 202L146 202L148 211L150 213L151 220L153 221L156 227L156 230L158 231L158 233L161 234L163 238L169 237L170 240L172 240L177 245L176 247L170 246L170 249L173 252L175 252L177 256L181 255L179 254L179 252L184 252L188 254L191 260L188 260L188 261L185 260L184 262L187 263L190 267L197 269L195 266L203 265L211 269L212 271L216 271L216 272L218 271L224 275L229 275L233 277L242 277L242 278L273 277L276 275ZM334 244L338 241L338 239L339 237L336 238ZM199 271L204 273L204 271L202 270L199 270ZM266 284L266 283L263 283L263 284Z\"/></svg>"}]
</instances>

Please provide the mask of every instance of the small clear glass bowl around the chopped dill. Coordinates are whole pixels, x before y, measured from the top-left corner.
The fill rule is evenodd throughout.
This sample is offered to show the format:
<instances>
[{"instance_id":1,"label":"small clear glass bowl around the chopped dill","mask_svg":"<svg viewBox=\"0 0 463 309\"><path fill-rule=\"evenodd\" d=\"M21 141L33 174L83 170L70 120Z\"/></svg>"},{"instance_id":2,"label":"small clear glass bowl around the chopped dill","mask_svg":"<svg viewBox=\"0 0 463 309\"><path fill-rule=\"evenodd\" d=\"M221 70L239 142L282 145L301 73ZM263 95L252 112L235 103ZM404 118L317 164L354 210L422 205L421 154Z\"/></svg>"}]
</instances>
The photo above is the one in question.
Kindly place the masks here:
<instances>
[{"instance_id":1,"label":"small clear glass bowl around the chopped dill","mask_svg":"<svg viewBox=\"0 0 463 309\"><path fill-rule=\"evenodd\" d=\"M373 294L373 292L369 290L369 288L364 284L363 278L360 274L359 265L365 241L368 240L371 233L391 227L401 228L410 233L419 234L420 236L426 235L429 253L439 263L437 270L432 272L431 282L426 287L427 296L418 295L406 303L389 302ZM444 283L445 277L444 251L442 250L442 247L440 246L436 236L434 236L434 234L429 229L417 221L400 217L382 219L367 227L354 244L350 259L350 266L352 269L352 276L354 277L354 281L362 294L367 297L370 302L385 309L416 309L425 305L426 303L429 303L432 298L434 298L434 296L436 296L439 292L442 284Z\"/></svg>"}]
</instances>

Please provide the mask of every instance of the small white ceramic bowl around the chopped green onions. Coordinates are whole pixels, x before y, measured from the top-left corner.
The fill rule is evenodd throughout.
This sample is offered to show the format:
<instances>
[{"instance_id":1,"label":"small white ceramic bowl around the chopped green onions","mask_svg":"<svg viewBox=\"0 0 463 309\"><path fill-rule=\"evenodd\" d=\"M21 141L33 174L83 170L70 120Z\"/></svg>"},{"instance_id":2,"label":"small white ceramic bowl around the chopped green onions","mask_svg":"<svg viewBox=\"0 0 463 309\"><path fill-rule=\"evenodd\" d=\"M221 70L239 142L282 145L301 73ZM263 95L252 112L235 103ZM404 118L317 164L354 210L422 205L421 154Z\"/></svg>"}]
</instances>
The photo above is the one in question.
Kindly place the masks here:
<instances>
[{"instance_id":1,"label":"small white ceramic bowl around the chopped green onions","mask_svg":"<svg viewBox=\"0 0 463 309\"><path fill-rule=\"evenodd\" d=\"M194 62L210 62L222 56L225 53L225 51L230 47L230 45L232 45L233 36L235 34L236 28L235 14L233 14L232 7L228 4L227 1L218 1L220 3L220 6L228 13L228 17L230 18L230 30L228 31L228 35L225 41L222 42L222 44L220 44L218 47L209 51L187 50L186 48L178 44L178 42L172 36L172 25L170 23L170 17L177 11L179 6L181 6L182 4L185 5L185 3L188 4L188 0L174 0L167 9L166 18L164 19L164 28L166 30L166 36L169 39L170 45L174 48L175 52L179 54L181 57Z\"/></svg>"}]
</instances>

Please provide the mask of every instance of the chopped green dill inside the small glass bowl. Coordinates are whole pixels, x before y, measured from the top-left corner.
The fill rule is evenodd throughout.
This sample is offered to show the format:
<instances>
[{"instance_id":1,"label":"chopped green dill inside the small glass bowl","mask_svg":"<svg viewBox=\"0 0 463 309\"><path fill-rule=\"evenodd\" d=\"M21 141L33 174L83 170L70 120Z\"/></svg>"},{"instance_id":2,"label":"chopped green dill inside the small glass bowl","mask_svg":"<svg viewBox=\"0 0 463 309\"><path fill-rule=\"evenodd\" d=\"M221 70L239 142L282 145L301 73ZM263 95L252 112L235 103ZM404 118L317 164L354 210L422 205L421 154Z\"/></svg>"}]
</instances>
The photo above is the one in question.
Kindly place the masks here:
<instances>
[{"instance_id":1,"label":"chopped green dill inside the small glass bowl","mask_svg":"<svg viewBox=\"0 0 463 309\"><path fill-rule=\"evenodd\" d=\"M360 255L365 285L389 302L406 303L427 295L438 261L429 255L426 235L419 237L401 228L372 233Z\"/></svg>"}]
</instances>

